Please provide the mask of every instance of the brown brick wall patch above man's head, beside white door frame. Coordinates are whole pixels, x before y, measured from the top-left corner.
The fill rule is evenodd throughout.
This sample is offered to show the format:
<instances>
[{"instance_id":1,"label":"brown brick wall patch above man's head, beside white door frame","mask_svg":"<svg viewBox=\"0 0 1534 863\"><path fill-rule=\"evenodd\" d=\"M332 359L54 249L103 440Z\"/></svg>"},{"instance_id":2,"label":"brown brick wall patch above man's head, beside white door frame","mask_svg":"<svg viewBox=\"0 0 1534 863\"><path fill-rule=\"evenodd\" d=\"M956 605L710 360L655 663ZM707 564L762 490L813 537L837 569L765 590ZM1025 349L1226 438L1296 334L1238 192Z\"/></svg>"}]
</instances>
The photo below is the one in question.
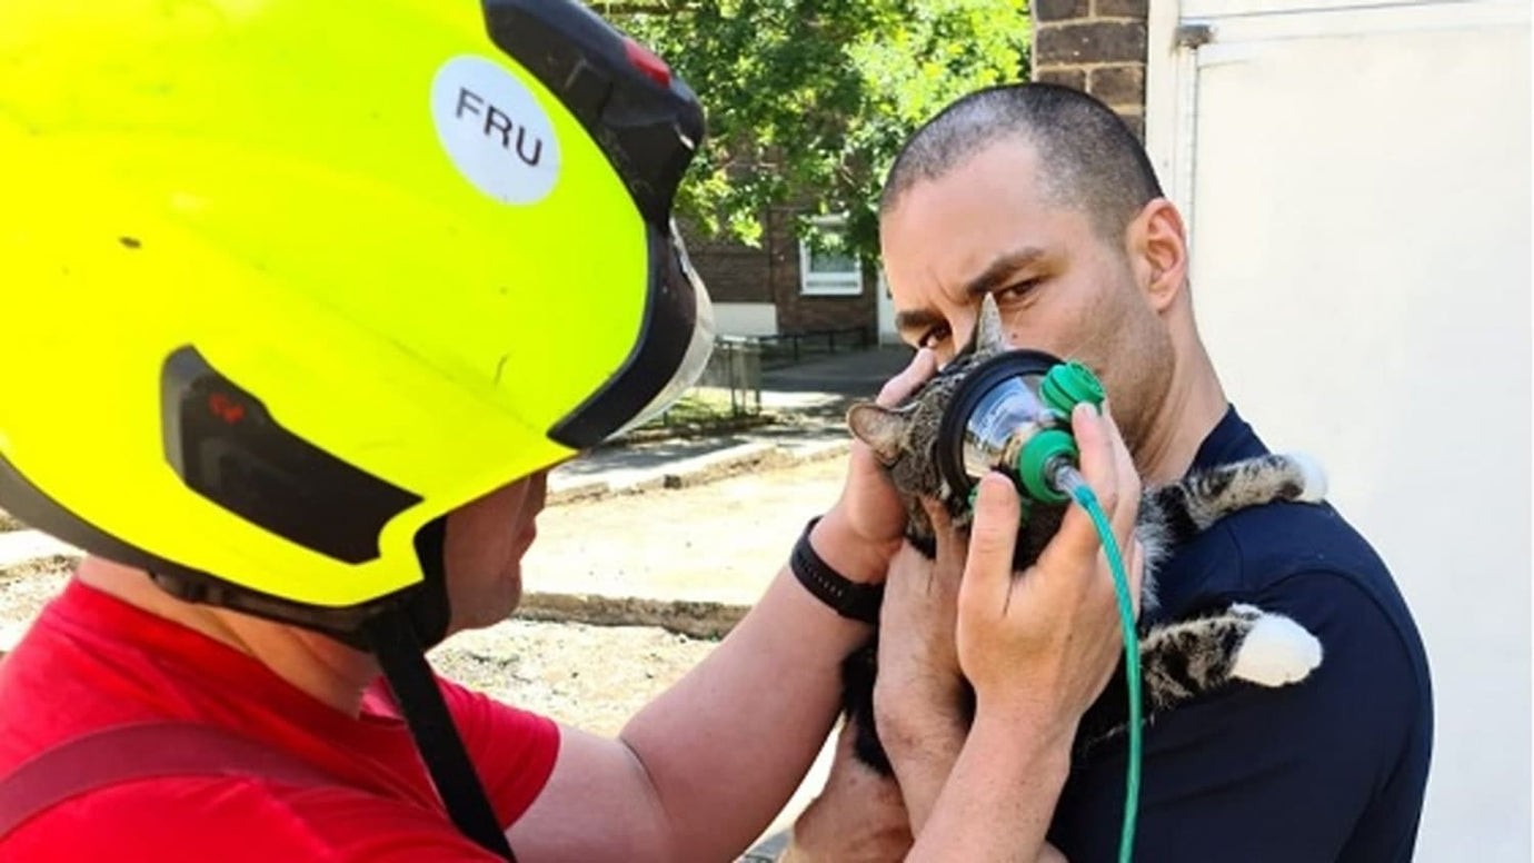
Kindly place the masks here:
<instances>
[{"instance_id":1,"label":"brown brick wall patch above man's head, beside white door frame","mask_svg":"<svg viewBox=\"0 0 1534 863\"><path fill-rule=\"evenodd\" d=\"M1086 91L1144 140L1147 0L1034 0L1034 80Z\"/></svg>"}]
</instances>

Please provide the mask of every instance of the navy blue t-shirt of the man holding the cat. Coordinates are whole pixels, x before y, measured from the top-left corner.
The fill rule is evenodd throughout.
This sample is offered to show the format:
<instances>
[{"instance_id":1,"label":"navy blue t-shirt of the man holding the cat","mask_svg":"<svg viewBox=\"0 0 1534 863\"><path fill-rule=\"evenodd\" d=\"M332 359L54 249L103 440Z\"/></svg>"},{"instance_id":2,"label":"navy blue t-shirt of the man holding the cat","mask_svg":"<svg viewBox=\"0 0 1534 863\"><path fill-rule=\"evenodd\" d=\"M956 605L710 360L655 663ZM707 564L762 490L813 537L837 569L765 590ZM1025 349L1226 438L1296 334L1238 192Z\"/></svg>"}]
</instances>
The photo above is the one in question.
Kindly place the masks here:
<instances>
[{"instance_id":1,"label":"navy blue t-shirt of the man holding the cat","mask_svg":"<svg viewBox=\"0 0 1534 863\"><path fill-rule=\"evenodd\" d=\"M1266 451L1232 407L1193 467ZM1178 548L1157 582L1155 619L1246 602L1310 630L1322 660L1299 683L1236 680L1146 726L1134 858L1410 860L1433 696L1411 613L1368 542L1330 505L1270 504ZM1083 717L1081 739L1124 719L1121 673ZM1120 734L1072 759L1049 829L1072 863L1117 860L1126 756Z\"/></svg>"}]
</instances>

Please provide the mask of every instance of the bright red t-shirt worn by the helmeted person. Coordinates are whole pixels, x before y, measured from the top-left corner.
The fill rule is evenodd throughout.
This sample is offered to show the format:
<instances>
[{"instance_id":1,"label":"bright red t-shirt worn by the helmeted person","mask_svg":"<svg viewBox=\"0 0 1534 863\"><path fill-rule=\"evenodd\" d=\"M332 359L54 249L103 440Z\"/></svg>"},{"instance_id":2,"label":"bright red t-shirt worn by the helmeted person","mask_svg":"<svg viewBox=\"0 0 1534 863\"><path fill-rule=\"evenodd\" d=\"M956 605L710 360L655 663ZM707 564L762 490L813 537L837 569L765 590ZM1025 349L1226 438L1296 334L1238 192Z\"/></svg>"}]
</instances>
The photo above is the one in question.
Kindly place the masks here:
<instances>
[{"instance_id":1,"label":"bright red t-shirt worn by the helmeted person","mask_svg":"<svg viewBox=\"0 0 1534 863\"><path fill-rule=\"evenodd\" d=\"M543 789L558 726L442 680L502 825ZM489 861L448 820L382 682L351 717L264 665L72 579L0 662L0 775L107 725L178 719L270 743L330 786L173 777L94 791L0 840L0 861Z\"/></svg>"}]
</instances>

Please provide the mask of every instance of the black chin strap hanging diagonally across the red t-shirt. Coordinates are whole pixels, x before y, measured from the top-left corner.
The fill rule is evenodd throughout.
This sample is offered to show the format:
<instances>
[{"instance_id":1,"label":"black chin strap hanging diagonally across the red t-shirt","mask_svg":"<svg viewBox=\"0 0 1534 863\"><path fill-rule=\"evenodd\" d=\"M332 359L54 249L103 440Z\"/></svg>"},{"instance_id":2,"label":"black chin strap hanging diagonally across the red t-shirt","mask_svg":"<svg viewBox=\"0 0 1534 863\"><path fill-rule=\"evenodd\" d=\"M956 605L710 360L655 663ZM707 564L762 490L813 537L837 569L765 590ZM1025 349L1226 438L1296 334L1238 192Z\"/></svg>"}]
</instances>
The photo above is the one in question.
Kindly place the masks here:
<instances>
[{"instance_id":1,"label":"black chin strap hanging diagonally across the red t-shirt","mask_svg":"<svg viewBox=\"0 0 1534 863\"><path fill-rule=\"evenodd\" d=\"M463 740L437 689L410 614L403 610L379 614L365 623L365 634L453 823L491 854L515 861L479 774L463 751Z\"/></svg>"}]
</instances>

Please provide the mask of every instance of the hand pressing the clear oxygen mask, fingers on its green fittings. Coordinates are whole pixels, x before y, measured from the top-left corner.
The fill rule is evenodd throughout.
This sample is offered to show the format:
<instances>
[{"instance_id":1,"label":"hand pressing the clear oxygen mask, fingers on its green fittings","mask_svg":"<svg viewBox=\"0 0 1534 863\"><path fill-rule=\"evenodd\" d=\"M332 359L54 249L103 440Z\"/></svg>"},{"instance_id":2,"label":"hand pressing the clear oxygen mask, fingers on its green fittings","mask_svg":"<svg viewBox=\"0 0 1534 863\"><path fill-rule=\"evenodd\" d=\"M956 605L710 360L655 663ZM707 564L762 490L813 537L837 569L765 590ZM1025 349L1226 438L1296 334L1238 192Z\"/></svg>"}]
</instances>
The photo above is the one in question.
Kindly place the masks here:
<instances>
[{"instance_id":1,"label":"hand pressing the clear oxygen mask, fingers on its green fittings","mask_svg":"<svg viewBox=\"0 0 1534 863\"><path fill-rule=\"evenodd\" d=\"M1134 541L1140 476L1103 405L1071 416L1081 474L1124 550L1138 616L1143 550ZM986 714L1071 737L1123 653L1112 573L1091 517L1072 505L1060 531L1020 576L1012 574L1020 504L1011 481L980 482L969 556L959 588L959 666Z\"/></svg>"}]
</instances>

